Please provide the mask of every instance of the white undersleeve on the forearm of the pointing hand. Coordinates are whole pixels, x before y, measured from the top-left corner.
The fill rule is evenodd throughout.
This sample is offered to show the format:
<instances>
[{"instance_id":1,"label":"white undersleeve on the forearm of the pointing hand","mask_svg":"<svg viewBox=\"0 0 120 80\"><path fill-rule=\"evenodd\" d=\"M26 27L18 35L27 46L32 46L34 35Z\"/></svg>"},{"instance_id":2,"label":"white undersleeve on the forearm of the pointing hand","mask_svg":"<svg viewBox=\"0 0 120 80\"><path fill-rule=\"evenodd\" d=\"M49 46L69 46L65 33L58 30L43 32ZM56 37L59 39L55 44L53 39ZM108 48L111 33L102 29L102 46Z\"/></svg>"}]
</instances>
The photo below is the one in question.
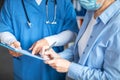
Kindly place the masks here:
<instances>
[{"instance_id":1,"label":"white undersleeve on the forearm of the pointing hand","mask_svg":"<svg viewBox=\"0 0 120 80\"><path fill-rule=\"evenodd\" d=\"M75 40L75 37L76 36L74 32L66 30L57 35L46 37L45 39L48 41L49 45L56 42L55 46L63 46L70 41Z\"/></svg>"}]
</instances>

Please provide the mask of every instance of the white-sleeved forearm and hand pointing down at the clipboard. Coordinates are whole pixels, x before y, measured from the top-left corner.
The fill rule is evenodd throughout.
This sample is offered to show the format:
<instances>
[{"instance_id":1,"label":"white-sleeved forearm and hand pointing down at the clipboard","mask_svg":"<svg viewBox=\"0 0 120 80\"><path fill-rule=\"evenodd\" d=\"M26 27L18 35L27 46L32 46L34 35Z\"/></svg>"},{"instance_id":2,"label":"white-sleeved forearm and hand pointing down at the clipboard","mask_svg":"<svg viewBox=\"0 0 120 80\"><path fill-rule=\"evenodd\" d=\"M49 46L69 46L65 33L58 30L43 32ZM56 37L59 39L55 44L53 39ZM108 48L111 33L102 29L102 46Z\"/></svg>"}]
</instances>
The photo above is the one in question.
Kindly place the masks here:
<instances>
[{"instance_id":1,"label":"white-sleeved forearm and hand pointing down at the clipboard","mask_svg":"<svg viewBox=\"0 0 120 80\"><path fill-rule=\"evenodd\" d=\"M59 34L52 35L37 41L32 45L30 50L32 50L33 54L36 54L42 50L43 46L50 46L54 42L56 42L54 46L64 46L65 44L73 41L75 37L76 37L76 34L74 32L70 30L66 30Z\"/></svg>"}]
</instances>

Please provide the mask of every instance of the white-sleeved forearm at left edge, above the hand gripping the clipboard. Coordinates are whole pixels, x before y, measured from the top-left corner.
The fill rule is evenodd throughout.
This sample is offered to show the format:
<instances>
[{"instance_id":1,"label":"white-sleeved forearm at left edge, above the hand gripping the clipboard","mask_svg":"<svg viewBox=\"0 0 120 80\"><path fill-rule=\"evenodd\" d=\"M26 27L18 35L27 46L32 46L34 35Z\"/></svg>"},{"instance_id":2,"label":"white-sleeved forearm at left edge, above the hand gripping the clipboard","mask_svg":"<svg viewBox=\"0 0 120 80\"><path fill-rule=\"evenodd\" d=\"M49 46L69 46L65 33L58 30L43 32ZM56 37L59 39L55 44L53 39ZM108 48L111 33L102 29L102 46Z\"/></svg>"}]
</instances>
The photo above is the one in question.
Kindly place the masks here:
<instances>
[{"instance_id":1,"label":"white-sleeved forearm at left edge, above the hand gripping the clipboard","mask_svg":"<svg viewBox=\"0 0 120 80\"><path fill-rule=\"evenodd\" d=\"M0 41L10 45L14 41L17 41L13 34L10 32L0 32Z\"/></svg>"}]
</instances>

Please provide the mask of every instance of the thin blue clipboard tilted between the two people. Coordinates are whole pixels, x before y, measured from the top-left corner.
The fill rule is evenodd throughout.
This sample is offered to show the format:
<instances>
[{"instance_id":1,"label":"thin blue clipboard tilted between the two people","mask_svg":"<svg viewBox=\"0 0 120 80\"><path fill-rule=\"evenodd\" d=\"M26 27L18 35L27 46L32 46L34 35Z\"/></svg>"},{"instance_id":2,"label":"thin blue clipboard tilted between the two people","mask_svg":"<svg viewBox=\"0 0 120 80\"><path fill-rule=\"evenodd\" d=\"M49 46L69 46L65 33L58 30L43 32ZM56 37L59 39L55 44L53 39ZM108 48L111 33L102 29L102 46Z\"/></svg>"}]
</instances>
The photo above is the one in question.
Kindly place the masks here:
<instances>
[{"instance_id":1,"label":"thin blue clipboard tilted between the two people","mask_svg":"<svg viewBox=\"0 0 120 80\"><path fill-rule=\"evenodd\" d=\"M27 55L27 56L30 56L30 57L33 57L33 58L36 58L36 59L39 59L39 60L45 60L43 59L42 57L40 56L37 56L37 55L33 55L32 53L30 53L29 51L26 51L26 50L20 50L20 49L17 49L17 48L13 48L5 43L1 43L0 42L0 46L4 47L4 48L7 48L9 50L12 50L14 52L17 52L17 53L20 53L20 54L23 54L23 55Z\"/></svg>"}]
</instances>

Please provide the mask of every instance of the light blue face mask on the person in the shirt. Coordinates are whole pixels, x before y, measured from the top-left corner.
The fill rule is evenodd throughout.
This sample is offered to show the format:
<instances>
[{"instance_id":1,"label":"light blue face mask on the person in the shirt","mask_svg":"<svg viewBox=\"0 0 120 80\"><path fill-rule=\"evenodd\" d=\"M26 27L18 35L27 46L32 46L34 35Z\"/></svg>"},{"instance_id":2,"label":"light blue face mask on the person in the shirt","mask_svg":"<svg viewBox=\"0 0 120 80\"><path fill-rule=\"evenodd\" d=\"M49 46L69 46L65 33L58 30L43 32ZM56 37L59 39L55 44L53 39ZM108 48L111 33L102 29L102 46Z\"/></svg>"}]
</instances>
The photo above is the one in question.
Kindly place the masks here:
<instances>
[{"instance_id":1,"label":"light blue face mask on the person in the shirt","mask_svg":"<svg viewBox=\"0 0 120 80\"><path fill-rule=\"evenodd\" d=\"M97 10L99 9L104 0L79 0L80 5L87 10Z\"/></svg>"}]
</instances>

